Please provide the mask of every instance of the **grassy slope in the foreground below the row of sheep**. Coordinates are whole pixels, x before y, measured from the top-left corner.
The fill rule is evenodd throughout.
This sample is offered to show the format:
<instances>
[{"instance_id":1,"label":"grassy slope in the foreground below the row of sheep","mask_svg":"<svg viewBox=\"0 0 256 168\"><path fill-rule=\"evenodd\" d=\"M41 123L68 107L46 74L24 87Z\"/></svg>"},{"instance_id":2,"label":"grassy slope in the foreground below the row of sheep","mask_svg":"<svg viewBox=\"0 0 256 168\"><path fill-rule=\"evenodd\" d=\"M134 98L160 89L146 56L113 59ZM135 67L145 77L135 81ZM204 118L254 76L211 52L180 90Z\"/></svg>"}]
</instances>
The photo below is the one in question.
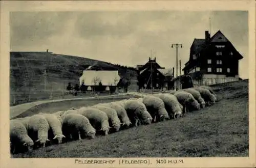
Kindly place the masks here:
<instances>
[{"instance_id":1,"label":"grassy slope in the foreground below the row of sheep","mask_svg":"<svg viewBox=\"0 0 256 168\"><path fill-rule=\"evenodd\" d=\"M91 140L52 145L12 157L248 156L248 80L213 88L220 101L188 113L184 118L130 128Z\"/></svg>"}]
</instances>

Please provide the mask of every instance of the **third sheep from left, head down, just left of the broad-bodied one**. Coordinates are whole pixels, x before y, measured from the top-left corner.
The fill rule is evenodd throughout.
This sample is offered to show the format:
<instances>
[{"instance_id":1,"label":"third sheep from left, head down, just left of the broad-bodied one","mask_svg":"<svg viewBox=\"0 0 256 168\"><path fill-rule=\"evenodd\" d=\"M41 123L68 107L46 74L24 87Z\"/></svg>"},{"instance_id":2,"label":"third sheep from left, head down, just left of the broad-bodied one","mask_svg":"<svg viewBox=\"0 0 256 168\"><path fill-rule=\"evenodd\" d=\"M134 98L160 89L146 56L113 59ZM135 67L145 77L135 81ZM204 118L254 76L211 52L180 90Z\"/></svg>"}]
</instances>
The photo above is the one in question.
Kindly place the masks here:
<instances>
[{"instance_id":1,"label":"third sheep from left, head down, just left of the broad-bodied one","mask_svg":"<svg viewBox=\"0 0 256 168\"><path fill-rule=\"evenodd\" d=\"M58 144L62 143L62 138L66 138L65 135L62 134L62 123L56 115L53 114L41 114L46 118L49 123L51 133L53 134L53 139L58 140Z\"/></svg>"}]
</instances>

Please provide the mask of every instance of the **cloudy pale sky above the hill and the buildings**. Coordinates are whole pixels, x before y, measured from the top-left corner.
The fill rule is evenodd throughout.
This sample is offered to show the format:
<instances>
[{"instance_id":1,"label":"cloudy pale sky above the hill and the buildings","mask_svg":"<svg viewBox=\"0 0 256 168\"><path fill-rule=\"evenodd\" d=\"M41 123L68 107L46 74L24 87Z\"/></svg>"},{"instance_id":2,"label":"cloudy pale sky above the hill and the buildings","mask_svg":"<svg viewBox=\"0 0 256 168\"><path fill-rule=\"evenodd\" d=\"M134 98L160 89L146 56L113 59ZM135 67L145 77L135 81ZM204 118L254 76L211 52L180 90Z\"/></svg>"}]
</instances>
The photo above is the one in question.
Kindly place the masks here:
<instances>
[{"instance_id":1,"label":"cloudy pale sky above the hill and the buildings","mask_svg":"<svg viewBox=\"0 0 256 168\"><path fill-rule=\"evenodd\" d=\"M11 12L10 51L48 48L132 67L156 57L160 66L176 68L176 48L170 46L179 43L182 69L194 39L218 30L243 55L239 76L248 78L246 11Z\"/></svg>"}]
</instances>

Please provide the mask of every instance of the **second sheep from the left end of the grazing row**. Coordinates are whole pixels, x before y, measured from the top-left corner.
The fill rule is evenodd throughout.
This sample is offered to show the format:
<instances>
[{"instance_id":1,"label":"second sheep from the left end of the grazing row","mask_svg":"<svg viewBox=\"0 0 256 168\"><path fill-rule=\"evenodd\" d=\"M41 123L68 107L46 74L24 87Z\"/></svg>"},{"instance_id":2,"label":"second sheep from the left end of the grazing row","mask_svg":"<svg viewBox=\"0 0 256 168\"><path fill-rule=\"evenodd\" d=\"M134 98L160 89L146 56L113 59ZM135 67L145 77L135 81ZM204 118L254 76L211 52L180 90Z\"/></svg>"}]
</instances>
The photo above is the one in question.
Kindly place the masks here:
<instances>
[{"instance_id":1,"label":"second sheep from the left end of the grazing row","mask_svg":"<svg viewBox=\"0 0 256 168\"><path fill-rule=\"evenodd\" d=\"M50 125L44 116L33 115L29 118L28 133L33 141L39 142L43 147L45 147L47 141L50 141L48 139L49 129Z\"/></svg>"}]
</instances>

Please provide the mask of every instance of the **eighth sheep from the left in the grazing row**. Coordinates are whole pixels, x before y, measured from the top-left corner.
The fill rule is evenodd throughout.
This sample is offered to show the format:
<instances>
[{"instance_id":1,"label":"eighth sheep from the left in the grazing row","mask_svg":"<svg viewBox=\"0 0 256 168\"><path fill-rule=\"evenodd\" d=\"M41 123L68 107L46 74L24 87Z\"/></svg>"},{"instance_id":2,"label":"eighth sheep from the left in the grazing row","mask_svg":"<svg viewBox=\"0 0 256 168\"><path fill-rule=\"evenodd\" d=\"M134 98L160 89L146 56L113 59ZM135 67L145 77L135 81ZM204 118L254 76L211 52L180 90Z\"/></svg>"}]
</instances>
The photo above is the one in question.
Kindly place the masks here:
<instances>
[{"instance_id":1,"label":"eighth sheep from the left in the grazing row","mask_svg":"<svg viewBox=\"0 0 256 168\"><path fill-rule=\"evenodd\" d=\"M124 109L134 126L138 126L138 122L145 125L152 123L153 118L143 103L137 100L127 100L124 103Z\"/></svg>"}]
</instances>

